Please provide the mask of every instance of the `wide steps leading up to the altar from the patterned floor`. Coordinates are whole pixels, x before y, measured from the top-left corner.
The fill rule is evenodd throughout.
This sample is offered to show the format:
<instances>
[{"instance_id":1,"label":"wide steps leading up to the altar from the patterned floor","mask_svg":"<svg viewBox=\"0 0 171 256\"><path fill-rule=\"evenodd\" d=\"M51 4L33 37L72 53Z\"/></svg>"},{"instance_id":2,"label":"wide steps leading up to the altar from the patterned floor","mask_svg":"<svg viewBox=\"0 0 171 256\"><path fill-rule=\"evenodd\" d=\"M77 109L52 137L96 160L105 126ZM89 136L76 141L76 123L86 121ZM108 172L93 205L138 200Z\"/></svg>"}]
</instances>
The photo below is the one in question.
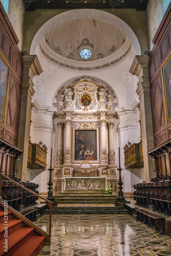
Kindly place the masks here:
<instances>
[{"instance_id":1,"label":"wide steps leading up to the altar from the patterned floor","mask_svg":"<svg viewBox=\"0 0 171 256\"><path fill-rule=\"evenodd\" d=\"M117 196L106 195L105 191L65 191L55 196L53 214L123 214L125 207L116 207ZM49 210L45 210L49 212Z\"/></svg>"}]
</instances>

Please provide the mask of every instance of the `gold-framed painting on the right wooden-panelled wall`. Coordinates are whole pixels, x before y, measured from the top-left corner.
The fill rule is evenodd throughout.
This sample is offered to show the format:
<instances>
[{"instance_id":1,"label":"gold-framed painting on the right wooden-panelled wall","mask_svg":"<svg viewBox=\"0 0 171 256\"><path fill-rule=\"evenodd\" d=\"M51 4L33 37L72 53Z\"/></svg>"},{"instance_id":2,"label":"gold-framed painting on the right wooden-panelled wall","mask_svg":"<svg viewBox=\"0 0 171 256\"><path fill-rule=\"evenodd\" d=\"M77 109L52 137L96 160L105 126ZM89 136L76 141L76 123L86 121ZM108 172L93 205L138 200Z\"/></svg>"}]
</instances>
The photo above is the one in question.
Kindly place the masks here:
<instances>
[{"instance_id":1,"label":"gold-framed painting on the right wooden-panelled wall","mask_svg":"<svg viewBox=\"0 0 171 256\"><path fill-rule=\"evenodd\" d=\"M171 54L162 66L167 123L171 121Z\"/></svg>"}]
</instances>

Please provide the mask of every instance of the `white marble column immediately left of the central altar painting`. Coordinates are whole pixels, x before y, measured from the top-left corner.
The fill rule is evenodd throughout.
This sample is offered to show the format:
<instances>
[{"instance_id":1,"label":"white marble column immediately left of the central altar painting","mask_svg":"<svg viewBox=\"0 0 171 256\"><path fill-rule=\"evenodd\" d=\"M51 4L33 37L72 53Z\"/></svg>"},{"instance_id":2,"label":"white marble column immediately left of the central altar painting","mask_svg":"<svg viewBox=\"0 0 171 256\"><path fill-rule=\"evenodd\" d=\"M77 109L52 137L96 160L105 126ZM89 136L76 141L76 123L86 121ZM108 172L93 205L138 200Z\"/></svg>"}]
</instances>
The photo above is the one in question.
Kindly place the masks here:
<instances>
[{"instance_id":1,"label":"white marble column immediately left of the central altar painting","mask_svg":"<svg viewBox=\"0 0 171 256\"><path fill-rule=\"evenodd\" d=\"M65 122L64 163L71 163L71 120Z\"/></svg>"}]
</instances>

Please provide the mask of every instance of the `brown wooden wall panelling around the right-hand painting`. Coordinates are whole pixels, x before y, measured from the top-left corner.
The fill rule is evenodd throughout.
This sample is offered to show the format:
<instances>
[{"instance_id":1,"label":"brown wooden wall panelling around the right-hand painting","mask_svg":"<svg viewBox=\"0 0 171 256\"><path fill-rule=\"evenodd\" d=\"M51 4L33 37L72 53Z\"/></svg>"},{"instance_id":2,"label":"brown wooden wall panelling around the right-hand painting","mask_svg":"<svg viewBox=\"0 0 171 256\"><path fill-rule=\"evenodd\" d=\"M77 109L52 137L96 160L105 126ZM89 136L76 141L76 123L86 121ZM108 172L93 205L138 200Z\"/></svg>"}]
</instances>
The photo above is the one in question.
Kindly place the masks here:
<instances>
[{"instance_id":1,"label":"brown wooden wall panelling around the right-hand painting","mask_svg":"<svg viewBox=\"0 0 171 256\"><path fill-rule=\"evenodd\" d=\"M153 40L156 44L149 61L149 75L151 80L151 102L154 144L160 145L171 138L170 124L166 123L164 87L161 67L167 59L171 47L171 4L156 32Z\"/></svg>"}]
</instances>

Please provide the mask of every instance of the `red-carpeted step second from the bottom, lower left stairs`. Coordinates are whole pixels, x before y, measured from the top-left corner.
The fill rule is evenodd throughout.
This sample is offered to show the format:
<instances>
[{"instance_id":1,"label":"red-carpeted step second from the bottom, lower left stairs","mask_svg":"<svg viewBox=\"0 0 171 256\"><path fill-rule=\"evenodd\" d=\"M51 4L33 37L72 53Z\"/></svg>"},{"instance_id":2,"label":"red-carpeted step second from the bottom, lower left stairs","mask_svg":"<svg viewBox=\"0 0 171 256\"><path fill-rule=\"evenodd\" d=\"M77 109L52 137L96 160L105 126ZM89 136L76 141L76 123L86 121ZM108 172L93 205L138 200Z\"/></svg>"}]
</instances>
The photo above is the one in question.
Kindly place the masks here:
<instances>
[{"instance_id":1,"label":"red-carpeted step second from the bottom, lower left stairs","mask_svg":"<svg viewBox=\"0 0 171 256\"><path fill-rule=\"evenodd\" d=\"M4 251L5 238L1 240L0 255L11 256L20 246L23 246L33 236L34 228L19 228L8 236L8 253ZM18 255L19 256L19 255ZM21 255L22 256L22 255Z\"/></svg>"}]
</instances>

